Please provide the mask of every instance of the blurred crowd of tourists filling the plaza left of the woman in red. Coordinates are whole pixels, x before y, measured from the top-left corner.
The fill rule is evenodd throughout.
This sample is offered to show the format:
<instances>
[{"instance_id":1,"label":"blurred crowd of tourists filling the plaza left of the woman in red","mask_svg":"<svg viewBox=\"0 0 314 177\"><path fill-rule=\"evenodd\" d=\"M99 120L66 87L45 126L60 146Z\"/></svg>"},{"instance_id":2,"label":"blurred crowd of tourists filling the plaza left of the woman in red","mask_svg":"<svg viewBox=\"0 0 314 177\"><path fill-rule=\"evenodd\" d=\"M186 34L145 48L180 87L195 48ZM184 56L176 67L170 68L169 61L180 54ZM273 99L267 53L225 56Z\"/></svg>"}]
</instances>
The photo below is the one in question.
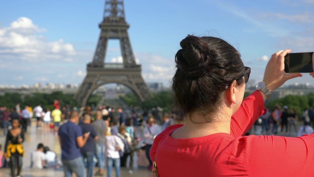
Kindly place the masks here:
<instances>
[{"instance_id":1,"label":"blurred crowd of tourists filling the plaza left of the woman in red","mask_svg":"<svg viewBox=\"0 0 314 177\"><path fill-rule=\"evenodd\" d=\"M141 150L148 161L148 170L152 170L149 151L153 141L163 129L175 123L174 113L164 113L157 106L143 111L108 105L76 109L60 107L59 101L54 100L53 107L52 110L42 108L41 104L33 108L25 105L23 109L17 104L10 110L1 107L1 128L6 142L3 154L0 153L3 162L0 165L11 168L12 177L20 176L25 153L31 153L32 169L62 168L66 177L72 177L72 173L78 177L103 176L106 170L110 177L114 168L119 177L121 167L133 172L134 152ZM60 160L42 143L33 152L23 148L32 118L36 119L36 131L59 137ZM143 130L141 135L137 134L138 127Z\"/></svg>"}]
</instances>

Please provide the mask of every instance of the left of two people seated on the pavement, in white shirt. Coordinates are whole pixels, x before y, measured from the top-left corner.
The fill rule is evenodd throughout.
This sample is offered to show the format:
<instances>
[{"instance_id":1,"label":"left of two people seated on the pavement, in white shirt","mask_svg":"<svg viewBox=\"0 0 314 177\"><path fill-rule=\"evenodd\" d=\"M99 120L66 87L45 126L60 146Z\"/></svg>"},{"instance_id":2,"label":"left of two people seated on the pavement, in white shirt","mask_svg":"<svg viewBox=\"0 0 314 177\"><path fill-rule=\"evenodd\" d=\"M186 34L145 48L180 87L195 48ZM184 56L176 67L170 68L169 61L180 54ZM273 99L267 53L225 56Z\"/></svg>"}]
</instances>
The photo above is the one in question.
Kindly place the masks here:
<instances>
[{"instance_id":1,"label":"left of two people seated on the pavement, in white shirt","mask_svg":"<svg viewBox=\"0 0 314 177\"><path fill-rule=\"evenodd\" d=\"M30 168L43 169L45 166L45 153L43 152L44 145L39 143L37 150L30 155Z\"/></svg>"}]
</instances>

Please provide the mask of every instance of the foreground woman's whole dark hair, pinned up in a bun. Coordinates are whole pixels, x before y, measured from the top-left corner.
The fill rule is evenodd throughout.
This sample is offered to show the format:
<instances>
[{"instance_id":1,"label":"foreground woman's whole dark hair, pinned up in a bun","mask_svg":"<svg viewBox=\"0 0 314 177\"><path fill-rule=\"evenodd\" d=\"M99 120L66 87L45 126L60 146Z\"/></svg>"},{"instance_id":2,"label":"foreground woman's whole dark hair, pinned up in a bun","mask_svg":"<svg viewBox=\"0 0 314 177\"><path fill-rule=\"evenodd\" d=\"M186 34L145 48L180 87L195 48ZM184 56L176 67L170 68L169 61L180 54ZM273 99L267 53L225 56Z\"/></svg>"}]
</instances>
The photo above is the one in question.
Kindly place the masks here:
<instances>
[{"instance_id":1,"label":"foreground woman's whole dark hair, pinned up in a bun","mask_svg":"<svg viewBox=\"0 0 314 177\"><path fill-rule=\"evenodd\" d=\"M212 122L209 114L220 106L222 92L245 70L241 56L228 42L210 36L188 35L180 46L172 79L176 104L183 116L197 110ZM244 79L236 82L244 83Z\"/></svg>"}]
</instances>

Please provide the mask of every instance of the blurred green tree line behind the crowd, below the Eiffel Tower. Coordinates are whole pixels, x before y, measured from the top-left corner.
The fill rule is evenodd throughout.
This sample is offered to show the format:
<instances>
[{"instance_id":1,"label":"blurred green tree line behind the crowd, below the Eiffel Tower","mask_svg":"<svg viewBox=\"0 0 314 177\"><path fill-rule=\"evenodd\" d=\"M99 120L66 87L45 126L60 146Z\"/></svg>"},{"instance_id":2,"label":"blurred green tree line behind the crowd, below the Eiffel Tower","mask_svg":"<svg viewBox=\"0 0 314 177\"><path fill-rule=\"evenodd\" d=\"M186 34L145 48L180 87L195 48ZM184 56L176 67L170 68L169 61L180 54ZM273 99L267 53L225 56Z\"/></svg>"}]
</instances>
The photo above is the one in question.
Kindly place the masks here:
<instances>
[{"instance_id":1,"label":"blurred green tree line behind the crowd, below the Eiffel Tower","mask_svg":"<svg viewBox=\"0 0 314 177\"><path fill-rule=\"evenodd\" d=\"M249 92L245 92L244 97L248 96ZM0 96L0 106L6 106L8 108L15 107L17 103L20 103L21 108L25 105L31 107L37 106L39 103L43 108L53 109L53 101L57 99L60 101L60 105L68 105L69 107L77 107L78 103L74 99L73 94L63 94L61 91L47 93L33 93L30 95L23 95L19 93L5 93ZM130 92L124 96L119 97L128 106L136 106L141 108L152 109L156 106L161 107L164 112L170 112L176 109L174 104L174 95L172 91L161 91L153 93L153 97L149 100L145 100L139 103L136 96ZM91 95L87 105L97 105L101 100L101 96ZM281 107L287 105L289 109L294 109L298 115L302 115L305 109L309 109L314 105L314 93L308 95L287 95L284 98L276 98L273 100L267 100L265 106L269 110L273 110L276 105Z\"/></svg>"}]
</instances>

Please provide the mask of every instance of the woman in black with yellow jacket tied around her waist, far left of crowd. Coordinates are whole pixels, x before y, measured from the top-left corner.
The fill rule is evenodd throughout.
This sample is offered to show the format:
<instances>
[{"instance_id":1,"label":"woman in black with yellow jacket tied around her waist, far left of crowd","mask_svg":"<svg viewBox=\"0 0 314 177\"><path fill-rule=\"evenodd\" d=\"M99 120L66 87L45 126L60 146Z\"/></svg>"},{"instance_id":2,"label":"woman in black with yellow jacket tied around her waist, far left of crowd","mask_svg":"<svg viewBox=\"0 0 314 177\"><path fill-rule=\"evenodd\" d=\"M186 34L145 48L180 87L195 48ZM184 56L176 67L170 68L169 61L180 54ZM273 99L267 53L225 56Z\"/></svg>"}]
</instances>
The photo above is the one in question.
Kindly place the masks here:
<instances>
[{"instance_id":1,"label":"woman in black with yellow jacket tied around her waist, far left of crowd","mask_svg":"<svg viewBox=\"0 0 314 177\"><path fill-rule=\"evenodd\" d=\"M25 151L22 143L24 142L24 132L20 128L18 119L12 120L12 129L6 135L4 158L10 158L11 176L19 177L22 170L23 156ZM15 171L17 168L17 174Z\"/></svg>"}]
</instances>

